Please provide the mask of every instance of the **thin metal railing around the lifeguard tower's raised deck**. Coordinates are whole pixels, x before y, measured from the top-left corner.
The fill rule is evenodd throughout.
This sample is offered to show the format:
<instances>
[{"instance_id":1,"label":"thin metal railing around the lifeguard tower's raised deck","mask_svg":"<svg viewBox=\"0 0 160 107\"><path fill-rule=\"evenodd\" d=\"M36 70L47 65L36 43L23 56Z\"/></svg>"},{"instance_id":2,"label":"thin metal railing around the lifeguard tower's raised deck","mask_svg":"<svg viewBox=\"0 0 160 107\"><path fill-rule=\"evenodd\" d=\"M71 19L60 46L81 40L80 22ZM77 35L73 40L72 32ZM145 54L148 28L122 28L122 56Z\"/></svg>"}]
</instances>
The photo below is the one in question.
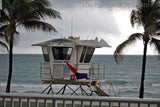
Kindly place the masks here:
<instances>
[{"instance_id":1,"label":"thin metal railing around the lifeguard tower's raised deck","mask_svg":"<svg viewBox=\"0 0 160 107\"><path fill-rule=\"evenodd\" d=\"M53 65L59 65L56 66L57 69L62 68L64 69L64 66L67 66L66 63L52 63ZM78 68L78 66L80 65L87 65L87 64L78 64L75 67ZM92 64L88 64L91 67L88 69L86 68L78 68L78 70L84 70L84 71L88 71L89 73L89 78L91 80L105 80L105 64L99 64L99 63L92 63ZM49 63L41 63L41 67L40 67L40 78L41 79L52 79L54 78L54 74L52 75L51 73L51 68L50 68L50 64ZM47 71L47 72L46 72ZM48 78L47 78L48 77ZM65 77L65 73L63 71L63 78Z\"/></svg>"}]
</instances>

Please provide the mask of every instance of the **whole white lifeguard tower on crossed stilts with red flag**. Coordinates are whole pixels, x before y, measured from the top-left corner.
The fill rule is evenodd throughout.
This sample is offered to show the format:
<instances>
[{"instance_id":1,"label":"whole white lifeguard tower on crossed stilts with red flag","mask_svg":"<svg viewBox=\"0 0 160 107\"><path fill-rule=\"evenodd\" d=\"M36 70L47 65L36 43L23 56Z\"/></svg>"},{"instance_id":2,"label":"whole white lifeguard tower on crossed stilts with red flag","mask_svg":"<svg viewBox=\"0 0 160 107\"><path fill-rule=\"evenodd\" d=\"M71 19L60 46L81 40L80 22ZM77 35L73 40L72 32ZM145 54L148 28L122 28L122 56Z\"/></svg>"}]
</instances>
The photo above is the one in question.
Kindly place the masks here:
<instances>
[{"instance_id":1,"label":"whole white lifeguard tower on crossed stilts with red flag","mask_svg":"<svg viewBox=\"0 0 160 107\"><path fill-rule=\"evenodd\" d=\"M95 48L110 47L103 39L80 40L79 37L69 37L32 46L41 46L44 56L41 82L49 86L42 93L63 95L68 87L76 95L76 91L81 90L82 95L92 95L95 92L99 96L108 96L100 87L101 82L105 81L105 65L90 63ZM52 87L54 84L64 86L55 92ZM78 85L78 88L73 90L70 85ZM83 86L89 87L90 93Z\"/></svg>"}]
</instances>

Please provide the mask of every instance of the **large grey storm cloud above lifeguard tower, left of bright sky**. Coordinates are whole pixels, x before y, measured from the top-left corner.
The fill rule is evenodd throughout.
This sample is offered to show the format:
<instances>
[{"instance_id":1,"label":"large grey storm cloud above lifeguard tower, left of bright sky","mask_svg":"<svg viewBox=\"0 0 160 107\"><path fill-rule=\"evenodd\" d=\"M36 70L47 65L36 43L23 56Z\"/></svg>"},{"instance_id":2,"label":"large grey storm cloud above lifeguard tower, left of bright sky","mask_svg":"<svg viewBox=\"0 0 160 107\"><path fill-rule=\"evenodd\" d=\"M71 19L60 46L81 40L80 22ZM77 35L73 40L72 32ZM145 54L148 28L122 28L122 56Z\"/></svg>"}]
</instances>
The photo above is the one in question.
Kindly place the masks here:
<instances>
[{"instance_id":1,"label":"large grey storm cloud above lifeguard tower, left of bright sky","mask_svg":"<svg viewBox=\"0 0 160 107\"><path fill-rule=\"evenodd\" d=\"M14 53L40 53L40 48L31 44L53 39L71 36L79 36L81 39L95 39L96 37L109 38L119 36L114 8L128 9L136 5L136 0L50 0L52 8L59 11L62 20L46 18L46 22L52 24L58 33L42 33L39 31L27 32L20 30L20 38L15 46ZM37 49L37 51L35 51Z\"/></svg>"}]
</instances>

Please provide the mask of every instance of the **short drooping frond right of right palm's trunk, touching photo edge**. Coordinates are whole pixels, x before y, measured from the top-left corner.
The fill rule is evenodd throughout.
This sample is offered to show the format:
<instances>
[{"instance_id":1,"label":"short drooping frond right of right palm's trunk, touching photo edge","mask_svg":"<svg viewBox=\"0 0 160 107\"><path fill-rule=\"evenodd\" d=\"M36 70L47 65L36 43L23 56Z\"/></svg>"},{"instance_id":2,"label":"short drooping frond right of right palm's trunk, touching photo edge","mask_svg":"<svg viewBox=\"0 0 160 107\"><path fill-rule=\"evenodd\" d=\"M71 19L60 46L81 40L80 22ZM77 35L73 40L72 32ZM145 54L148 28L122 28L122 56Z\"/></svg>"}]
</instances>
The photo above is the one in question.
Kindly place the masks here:
<instances>
[{"instance_id":1,"label":"short drooping frond right of right palm's trunk, touching photo edge","mask_svg":"<svg viewBox=\"0 0 160 107\"><path fill-rule=\"evenodd\" d=\"M160 40L153 37L150 41L150 45L153 46L160 55Z\"/></svg>"}]
</instances>

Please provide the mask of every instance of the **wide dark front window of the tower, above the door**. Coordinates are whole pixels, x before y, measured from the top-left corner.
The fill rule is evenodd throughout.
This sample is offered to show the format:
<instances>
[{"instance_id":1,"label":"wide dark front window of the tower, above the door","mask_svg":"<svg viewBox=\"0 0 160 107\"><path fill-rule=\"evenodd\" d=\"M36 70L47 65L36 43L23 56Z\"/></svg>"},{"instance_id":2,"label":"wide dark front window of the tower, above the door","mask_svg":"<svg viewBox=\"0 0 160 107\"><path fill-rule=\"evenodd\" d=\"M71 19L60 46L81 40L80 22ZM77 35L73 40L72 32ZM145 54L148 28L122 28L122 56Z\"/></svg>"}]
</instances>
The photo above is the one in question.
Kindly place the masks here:
<instances>
[{"instance_id":1,"label":"wide dark front window of the tower, above the door","mask_svg":"<svg viewBox=\"0 0 160 107\"><path fill-rule=\"evenodd\" d=\"M70 60L72 54L71 47L53 47L52 51L55 60Z\"/></svg>"}]
</instances>

